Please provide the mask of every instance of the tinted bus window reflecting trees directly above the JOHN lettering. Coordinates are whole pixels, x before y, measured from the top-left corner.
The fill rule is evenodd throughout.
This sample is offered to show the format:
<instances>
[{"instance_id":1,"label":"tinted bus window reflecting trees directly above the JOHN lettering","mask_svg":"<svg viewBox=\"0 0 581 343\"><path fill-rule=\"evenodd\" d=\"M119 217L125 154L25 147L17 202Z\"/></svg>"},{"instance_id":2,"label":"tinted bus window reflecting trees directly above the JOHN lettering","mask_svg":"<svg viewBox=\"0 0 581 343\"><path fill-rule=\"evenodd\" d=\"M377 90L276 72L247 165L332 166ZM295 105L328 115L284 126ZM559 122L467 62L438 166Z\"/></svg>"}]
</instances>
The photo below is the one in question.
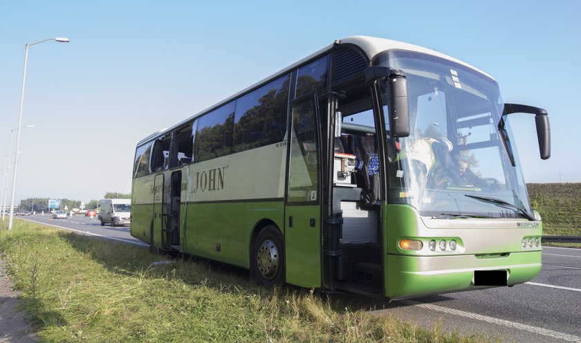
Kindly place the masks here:
<instances>
[{"instance_id":1,"label":"tinted bus window reflecting trees directly above the JOHN lettering","mask_svg":"<svg viewBox=\"0 0 581 343\"><path fill-rule=\"evenodd\" d=\"M234 102L199 118L194 148L196 162L230 154L233 124Z\"/></svg>"}]
</instances>

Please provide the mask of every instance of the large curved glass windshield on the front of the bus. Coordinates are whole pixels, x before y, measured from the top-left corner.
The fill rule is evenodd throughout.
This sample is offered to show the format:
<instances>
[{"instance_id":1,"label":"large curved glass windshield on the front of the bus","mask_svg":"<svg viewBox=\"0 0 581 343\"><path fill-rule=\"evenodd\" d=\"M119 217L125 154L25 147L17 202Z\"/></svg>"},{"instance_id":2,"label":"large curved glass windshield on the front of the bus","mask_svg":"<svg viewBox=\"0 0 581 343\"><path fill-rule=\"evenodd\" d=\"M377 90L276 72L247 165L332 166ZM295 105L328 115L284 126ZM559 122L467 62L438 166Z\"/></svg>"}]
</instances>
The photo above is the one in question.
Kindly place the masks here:
<instances>
[{"instance_id":1,"label":"large curved glass windshield on the front of the bus","mask_svg":"<svg viewBox=\"0 0 581 343\"><path fill-rule=\"evenodd\" d=\"M413 205L434 218L532 219L517 151L513 147L514 167L499 136L503 102L497 83L467 66L420 53L385 53L378 63L405 73L410 117L409 137L391 138L387 86L382 86L388 201ZM512 138L508 123L506 130Z\"/></svg>"}]
</instances>

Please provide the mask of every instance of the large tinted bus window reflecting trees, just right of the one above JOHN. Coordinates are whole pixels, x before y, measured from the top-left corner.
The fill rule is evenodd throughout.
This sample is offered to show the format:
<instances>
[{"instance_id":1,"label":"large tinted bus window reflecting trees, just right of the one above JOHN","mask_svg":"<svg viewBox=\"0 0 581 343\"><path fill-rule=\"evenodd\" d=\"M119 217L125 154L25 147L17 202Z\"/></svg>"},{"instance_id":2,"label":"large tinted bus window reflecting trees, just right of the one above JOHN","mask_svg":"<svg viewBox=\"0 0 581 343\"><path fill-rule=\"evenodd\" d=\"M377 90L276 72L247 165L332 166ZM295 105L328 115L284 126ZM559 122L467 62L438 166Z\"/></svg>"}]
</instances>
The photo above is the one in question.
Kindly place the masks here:
<instances>
[{"instance_id":1,"label":"large tinted bus window reflecting trees, just right of the one above JOHN","mask_svg":"<svg viewBox=\"0 0 581 343\"><path fill-rule=\"evenodd\" d=\"M233 152L284 140L290 80L286 75L237 100Z\"/></svg>"}]
</instances>

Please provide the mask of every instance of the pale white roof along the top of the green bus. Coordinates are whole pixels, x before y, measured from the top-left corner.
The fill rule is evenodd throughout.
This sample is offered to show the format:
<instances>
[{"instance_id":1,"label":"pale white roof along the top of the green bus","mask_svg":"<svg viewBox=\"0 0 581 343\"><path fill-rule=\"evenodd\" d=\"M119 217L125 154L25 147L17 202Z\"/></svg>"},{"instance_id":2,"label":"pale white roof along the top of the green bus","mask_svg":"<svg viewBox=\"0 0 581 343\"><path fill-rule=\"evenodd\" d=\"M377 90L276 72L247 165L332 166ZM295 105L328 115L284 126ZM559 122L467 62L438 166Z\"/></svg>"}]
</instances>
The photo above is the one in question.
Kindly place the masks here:
<instances>
[{"instance_id":1,"label":"pale white roof along the top of the green bus","mask_svg":"<svg viewBox=\"0 0 581 343\"><path fill-rule=\"evenodd\" d=\"M461 64L463 66L467 66L468 68L471 68L474 71L477 71L478 73L486 75L487 77L490 77L490 79L492 79L492 77L490 75L488 75L487 73L484 73L483 71L479 70L478 68L475 68L474 66L471 66L470 64L462 62L461 60L456 59L454 57L450 57L450 56L445 55L443 53L439 53L436 50L430 50L428 48L423 48L422 46L417 46L414 44L404 43L403 41L394 41L394 40L385 39L385 38L367 37L367 36L351 36L351 37L347 37L344 39L335 40L333 42L333 44L329 44L328 46L325 46L324 48L317 50L315 53L312 53L311 55L308 55L307 57L300 59L298 62L295 62L294 64L291 64L290 66L287 66L286 68L282 69L281 71L278 71L277 73L269 75L268 77L264 78L263 80L260 80L259 82L255 83L255 84L252 84L252 86L248 86L246 89L239 91L238 93L222 100L221 102L218 102L217 104L213 104L212 106L208 107L207 109L204 109L203 111L200 111L200 112L190 116L189 118L183 120L182 122L179 122L178 124L170 127L169 129L161 129L155 133L151 133L151 135L140 140L137 143L137 146L143 145L145 142L149 142L149 141L154 140L160 136L163 136L165 133L171 132L174 129L181 127L186 122L189 122L190 120L193 120L194 118L197 118L200 115L208 113L208 112L212 111L213 109L216 109L219 106L222 106L223 104L226 104L226 103L230 102L231 100L233 100L235 98L239 98L241 95L248 93L248 92L252 91L253 89L258 88L262 84L265 84L266 82L268 82L270 80L273 80L275 77L278 77L280 75L284 75L286 73L290 73L291 71L295 70L295 68L301 66L302 64L306 64L306 62L309 62L312 59L315 59L316 57L323 55L324 53L329 52L329 50L331 50L331 49L335 48L335 46L338 46L341 44L351 44L351 45L358 46L362 50L362 52L365 53L365 55L367 55L367 58L369 60L371 60L373 57L375 57L378 53L382 53L382 52L388 51L388 50L408 50L408 51L414 51L417 53L424 53L427 55L433 55L436 57L441 57L443 59L448 59L449 61L455 62L457 64ZM494 80L494 79L492 79L492 80Z\"/></svg>"}]
</instances>

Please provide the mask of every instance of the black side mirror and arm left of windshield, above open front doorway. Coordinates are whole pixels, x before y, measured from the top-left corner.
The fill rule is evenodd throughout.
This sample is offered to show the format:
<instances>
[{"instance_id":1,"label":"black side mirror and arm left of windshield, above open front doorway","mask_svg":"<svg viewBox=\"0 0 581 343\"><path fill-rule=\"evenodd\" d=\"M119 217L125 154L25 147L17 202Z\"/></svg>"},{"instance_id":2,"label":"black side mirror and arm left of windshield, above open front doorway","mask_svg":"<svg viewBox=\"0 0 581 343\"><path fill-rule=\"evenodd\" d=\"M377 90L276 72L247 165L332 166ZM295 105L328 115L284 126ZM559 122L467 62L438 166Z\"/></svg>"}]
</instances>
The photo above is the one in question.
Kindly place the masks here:
<instances>
[{"instance_id":1,"label":"black side mirror and arm left of windshield, above open front doorway","mask_svg":"<svg viewBox=\"0 0 581 343\"><path fill-rule=\"evenodd\" d=\"M387 66L369 66L365 68L365 82L371 86L374 82L387 79L387 96L389 97L389 130L393 137L409 136L409 108L407 104L407 80L403 71Z\"/></svg>"}]
</instances>

